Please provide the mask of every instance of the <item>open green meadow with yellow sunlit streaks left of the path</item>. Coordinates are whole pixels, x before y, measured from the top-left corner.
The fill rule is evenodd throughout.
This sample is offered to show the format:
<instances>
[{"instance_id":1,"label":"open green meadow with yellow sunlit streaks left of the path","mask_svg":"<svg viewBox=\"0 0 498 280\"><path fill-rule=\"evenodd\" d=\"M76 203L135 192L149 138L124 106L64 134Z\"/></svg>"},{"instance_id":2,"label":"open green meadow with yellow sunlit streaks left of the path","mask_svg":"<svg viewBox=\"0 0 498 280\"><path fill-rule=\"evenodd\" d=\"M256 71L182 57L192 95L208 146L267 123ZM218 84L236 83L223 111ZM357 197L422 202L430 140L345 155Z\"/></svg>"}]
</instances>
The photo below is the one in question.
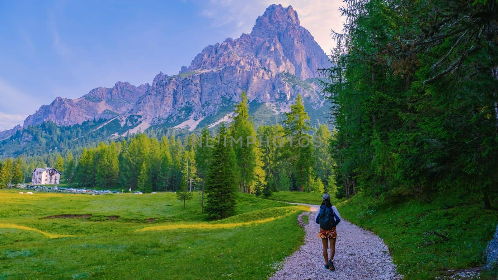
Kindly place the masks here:
<instances>
[{"instance_id":1,"label":"open green meadow with yellow sunlit streaks left of the path","mask_svg":"<svg viewBox=\"0 0 498 280\"><path fill-rule=\"evenodd\" d=\"M208 222L197 194L0 190L0 279L264 279L303 243L305 208L239 194Z\"/></svg>"}]
</instances>

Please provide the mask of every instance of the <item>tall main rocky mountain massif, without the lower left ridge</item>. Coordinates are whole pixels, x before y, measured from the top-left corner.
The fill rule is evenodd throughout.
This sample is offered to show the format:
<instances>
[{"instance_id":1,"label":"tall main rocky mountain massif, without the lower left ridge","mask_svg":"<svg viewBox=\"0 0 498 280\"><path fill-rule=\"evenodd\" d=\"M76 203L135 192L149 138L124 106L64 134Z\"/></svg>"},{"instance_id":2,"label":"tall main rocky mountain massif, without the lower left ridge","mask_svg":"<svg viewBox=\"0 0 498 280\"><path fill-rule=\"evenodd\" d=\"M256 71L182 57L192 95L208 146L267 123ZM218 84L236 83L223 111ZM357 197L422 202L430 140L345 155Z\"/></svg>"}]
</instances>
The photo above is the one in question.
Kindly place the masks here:
<instances>
[{"instance_id":1,"label":"tall main rocky mountain massif, without the lower left ridge","mask_svg":"<svg viewBox=\"0 0 498 280\"><path fill-rule=\"evenodd\" d=\"M328 57L299 25L292 6L271 5L250 34L207 46L179 75L156 75L147 93L121 117L122 123L131 115L149 125L198 120L238 102L242 91L249 101L271 103L283 111L300 93L318 108L317 69L328 66Z\"/></svg>"}]
</instances>

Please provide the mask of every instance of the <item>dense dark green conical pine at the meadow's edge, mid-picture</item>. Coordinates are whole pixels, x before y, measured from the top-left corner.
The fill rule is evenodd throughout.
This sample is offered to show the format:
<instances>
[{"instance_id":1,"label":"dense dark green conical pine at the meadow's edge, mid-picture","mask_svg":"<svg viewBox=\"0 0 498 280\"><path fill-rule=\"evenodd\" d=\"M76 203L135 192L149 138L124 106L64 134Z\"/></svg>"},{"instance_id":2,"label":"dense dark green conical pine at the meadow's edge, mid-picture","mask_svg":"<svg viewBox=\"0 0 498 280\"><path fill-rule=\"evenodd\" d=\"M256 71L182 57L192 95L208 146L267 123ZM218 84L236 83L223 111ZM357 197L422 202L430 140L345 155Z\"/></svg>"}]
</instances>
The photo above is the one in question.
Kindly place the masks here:
<instances>
[{"instance_id":1,"label":"dense dark green conical pine at the meadow's edge, mid-picture","mask_svg":"<svg viewBox=\"0 0 498 280\"><path fill-rule=\"evenodd\" d=\"M215 143L206 180L205 210L210 219L226 218L234 214L237 193L235 152L225 123L218 127L218 142Z\"/></svg>"}]
</instances>

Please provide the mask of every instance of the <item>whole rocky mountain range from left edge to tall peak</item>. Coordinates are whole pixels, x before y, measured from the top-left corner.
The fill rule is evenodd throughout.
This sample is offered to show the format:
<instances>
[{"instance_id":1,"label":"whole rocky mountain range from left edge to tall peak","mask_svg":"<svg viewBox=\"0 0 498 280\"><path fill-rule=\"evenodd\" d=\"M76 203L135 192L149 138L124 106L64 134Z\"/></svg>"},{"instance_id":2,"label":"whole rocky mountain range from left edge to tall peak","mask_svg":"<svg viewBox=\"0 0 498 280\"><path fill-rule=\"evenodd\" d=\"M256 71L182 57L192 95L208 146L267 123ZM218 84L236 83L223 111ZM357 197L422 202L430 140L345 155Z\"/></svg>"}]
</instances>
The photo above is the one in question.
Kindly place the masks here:
<instances>
[{"instance_id":1,"label":"whole rocky mountain range from left edge to tall peak","mask_svg":"<svg viewBox=\"0 0 498 280\"><path fill-rule=\"evenodd\" d=\"M327 67L327 55L300 25L292 6L272 4L258 16L250 34L207 46L178 75L160 72L151 85L138 87L118 82L75 100L57 97L28 116L23 127L45 121L69 126L103 118L112 120L102 126L113 133L111 138L151 126L193 130L226 118L223 109L233 108L242 91L274 115L288 111L299 93L307 110L317 110L323 97L316 70ZM0 133L0 139L19 129Z\"/></svg>"}]
</instances>

